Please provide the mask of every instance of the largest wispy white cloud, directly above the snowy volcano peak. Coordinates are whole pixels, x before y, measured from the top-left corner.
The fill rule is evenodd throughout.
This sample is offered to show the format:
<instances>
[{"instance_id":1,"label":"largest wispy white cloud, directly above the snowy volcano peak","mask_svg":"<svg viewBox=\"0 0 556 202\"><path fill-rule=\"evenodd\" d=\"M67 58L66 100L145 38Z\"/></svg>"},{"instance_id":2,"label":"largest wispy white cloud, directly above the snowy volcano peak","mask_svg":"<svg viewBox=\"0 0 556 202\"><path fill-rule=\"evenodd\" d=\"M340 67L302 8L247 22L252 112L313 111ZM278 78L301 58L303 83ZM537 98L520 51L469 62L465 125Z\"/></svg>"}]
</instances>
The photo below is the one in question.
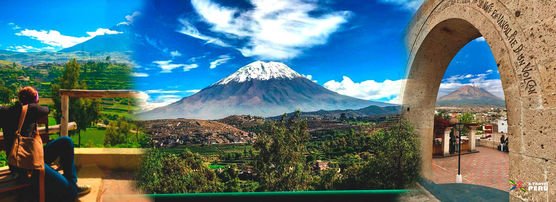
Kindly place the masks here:
<instances>
[{"instance_id":1,"label":"largest wispy white cloud, directly above the snowy volcano peak","mask_svg":"<svg viewBox=\"0 0 556 202\"><path fill-rule=\"evenodd\" d=\"M200 20L210 26L201 33L191 19L178 19L177 32L219 46L233 47L244 56L291 59L304 49L326 44L329 36L347 22L351 12L331 11L317 1L250 1L252 8L225 7L210 0L192 0ZM318 13L318 14L316 14Z\"/></svg>"}]
</instances>

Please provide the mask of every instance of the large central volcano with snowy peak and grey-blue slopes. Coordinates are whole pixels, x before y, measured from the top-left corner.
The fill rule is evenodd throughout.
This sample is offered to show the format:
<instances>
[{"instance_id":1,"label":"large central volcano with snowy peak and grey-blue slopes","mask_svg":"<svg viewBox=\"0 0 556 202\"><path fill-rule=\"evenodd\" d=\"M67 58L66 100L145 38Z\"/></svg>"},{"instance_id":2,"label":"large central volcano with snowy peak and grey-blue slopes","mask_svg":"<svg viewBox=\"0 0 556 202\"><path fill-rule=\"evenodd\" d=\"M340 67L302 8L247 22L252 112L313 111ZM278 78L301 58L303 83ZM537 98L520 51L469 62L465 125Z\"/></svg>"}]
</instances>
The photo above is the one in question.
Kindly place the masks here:
<instances>
[{"instance_id":1,"label":"large central volcano with snowy peak and grey-blue slopes","mask_svg":"<svg viewBox=\"0 0 556 202\"><path fill-rule=\"evenodd\" d=\"M312 82L289 66L255 61L170 105L138 113L140 119L198 118L215 120L230 115L278 116L302 111L347 110L394 106L337 94Z\"/></svg>"}]
</instances>

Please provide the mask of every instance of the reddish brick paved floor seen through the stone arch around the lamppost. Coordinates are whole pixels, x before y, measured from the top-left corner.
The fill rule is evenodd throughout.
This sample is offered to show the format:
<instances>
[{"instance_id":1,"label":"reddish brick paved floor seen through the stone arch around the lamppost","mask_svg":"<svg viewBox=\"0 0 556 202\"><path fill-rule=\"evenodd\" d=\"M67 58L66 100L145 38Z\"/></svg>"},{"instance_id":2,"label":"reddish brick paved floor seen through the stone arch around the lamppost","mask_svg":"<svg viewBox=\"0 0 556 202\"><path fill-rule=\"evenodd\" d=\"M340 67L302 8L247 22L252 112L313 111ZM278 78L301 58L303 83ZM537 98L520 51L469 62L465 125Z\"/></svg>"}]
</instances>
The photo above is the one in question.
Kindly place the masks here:
<instances>
[{"instance_id":1,"label":"reddish brick paved floor seen through the stone arch around the lamppost","mask_svg":"<svg viewBox=\"0 0 556 202\"><path fill-rule=\"evenodd\" d=\"M476 147L479 153L461 156L462 182L508 191L508 160L506 152ZM458 156L433 158L433 182L455 183L458 174Z\"/></svg>"}]
</instances>

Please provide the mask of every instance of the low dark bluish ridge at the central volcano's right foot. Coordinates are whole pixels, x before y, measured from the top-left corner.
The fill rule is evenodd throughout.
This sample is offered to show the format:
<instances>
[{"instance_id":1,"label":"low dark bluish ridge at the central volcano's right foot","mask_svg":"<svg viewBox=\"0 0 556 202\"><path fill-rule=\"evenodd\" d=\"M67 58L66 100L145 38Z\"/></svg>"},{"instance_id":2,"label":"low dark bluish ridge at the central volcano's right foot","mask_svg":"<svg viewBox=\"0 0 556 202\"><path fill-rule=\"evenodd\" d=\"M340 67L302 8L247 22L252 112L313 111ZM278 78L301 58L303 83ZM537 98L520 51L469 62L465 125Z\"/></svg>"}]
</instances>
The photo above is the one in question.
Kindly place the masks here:
<instances>
[{"instance_id":1,"label":"low dark bluish ridge at the central volcano's right foot","mask_svg":"<svg viewBox=\"0 0 556 202\"><path fill-rule=\"evenodd\" d=\"M301 117L303 118L340 118L342 113L346 114L346 117L361 117L361 116L375 116L375 115L395 115L400 112L399 106L368 106L365 108L360 108L359 110L319 110L312 112L301 112ZM294 112L287 113L286 116L293 116ZM269 117L272 120L280 119L282 116Z\"/></svg>"}]
</instances>

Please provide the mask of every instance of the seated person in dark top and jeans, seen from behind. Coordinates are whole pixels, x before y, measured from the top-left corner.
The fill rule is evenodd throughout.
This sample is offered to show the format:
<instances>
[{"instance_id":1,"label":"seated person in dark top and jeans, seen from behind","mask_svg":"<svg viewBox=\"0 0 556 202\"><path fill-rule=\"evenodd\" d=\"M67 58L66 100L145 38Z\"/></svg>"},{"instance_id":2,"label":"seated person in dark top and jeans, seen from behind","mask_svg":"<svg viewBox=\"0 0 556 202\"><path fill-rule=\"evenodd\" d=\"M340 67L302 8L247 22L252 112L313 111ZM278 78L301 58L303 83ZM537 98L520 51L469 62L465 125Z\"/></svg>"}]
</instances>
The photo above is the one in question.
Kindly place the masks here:
<instances>
[{"instance_id":1,"label":"seated person in dark top and jeans, seen from behind","mask_svg":"<svg viewBox=\"0 0 556 202\"><path fill-rule=\"evenodd\" d=\"M22 137L31 137L36 130L37 120L47 116L48 107L38 105L38 92L33 87L24 87L18 94L19 101L12 107L0 108L0 123L4 132L6 153L11 151L14 134L19 125L19 118L24 105L27 113L21 127ZM43 147L44 151L44 193L47 201L75 201L78 194L87 194L91 191L90 185L77 184L77 172L73 163L73 141L69 137L59 137ZM52 169L49 165L57 158L63 170L63 175ZM27 169L18 168L9 164L9 170L18 182L29 183L38 189L39 174L34 170L28 174Z\"/></svg>"}]
</instances>

